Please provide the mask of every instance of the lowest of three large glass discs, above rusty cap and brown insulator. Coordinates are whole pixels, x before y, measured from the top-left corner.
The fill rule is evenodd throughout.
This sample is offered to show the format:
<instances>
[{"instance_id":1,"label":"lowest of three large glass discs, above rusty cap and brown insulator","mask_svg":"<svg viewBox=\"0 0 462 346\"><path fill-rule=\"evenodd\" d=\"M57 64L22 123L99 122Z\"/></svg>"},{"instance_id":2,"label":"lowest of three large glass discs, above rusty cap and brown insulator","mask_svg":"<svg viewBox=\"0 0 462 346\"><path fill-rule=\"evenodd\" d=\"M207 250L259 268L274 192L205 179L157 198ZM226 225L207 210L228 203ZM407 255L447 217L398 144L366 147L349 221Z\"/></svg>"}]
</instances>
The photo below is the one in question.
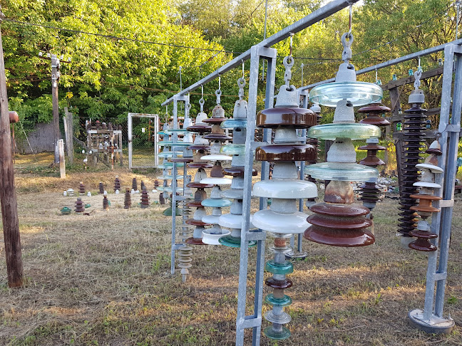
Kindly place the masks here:
<instances>
[{"instance_id":1,"label":"lowest of three large glass discs, above rusty cap and brown insulator","mask_svg":"<svg viewBox=\"0 0 462 346\"><path fill-rule=\"evenodd\" d=\"M342 182L365 182L379 177L379 171L363 164L345 162L322 162L304 167L304 173L314 179L337 180Z\"/></svg>"}]
</instances>

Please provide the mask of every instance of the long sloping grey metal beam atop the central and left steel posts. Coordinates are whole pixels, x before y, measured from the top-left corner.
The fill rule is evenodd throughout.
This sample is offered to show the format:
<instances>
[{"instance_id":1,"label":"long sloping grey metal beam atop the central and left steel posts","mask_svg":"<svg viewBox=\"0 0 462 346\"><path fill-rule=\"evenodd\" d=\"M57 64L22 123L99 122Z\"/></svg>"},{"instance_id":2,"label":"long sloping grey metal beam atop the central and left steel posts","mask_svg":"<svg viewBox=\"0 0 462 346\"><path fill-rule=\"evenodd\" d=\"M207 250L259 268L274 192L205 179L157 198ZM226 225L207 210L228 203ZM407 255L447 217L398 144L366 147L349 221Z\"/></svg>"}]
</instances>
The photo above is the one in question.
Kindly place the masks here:
<instances>
[{"instance_id":1,"label":"long sloping grey metal beam atop the central and left steel posts","mask_svg":"<svg viewBox=\"0 0 462 346\"><path fill-rule=\"evenodd\" d=\"M305 16L304 18L300 19L299 21L296 21L292 25L287 26L286 28L283 28L281 31L278 31L277 33L274 33L274 35L258 43L257 46L269 48L273 46L275 43L278 43L279 41L284 40L284 38L289 37L291 33L297 33L299 31L302 31L304 28L307 28L308 26L312 26L314 23L317 23L318 21L322 21L322 19L325 19L328 16L331 16L332 14L340 11L341 9L344 9L345 7L348 7L350 4L356 3L357 1L359 0L331 1L326 6L322 6L320 9L317 9L316 11L312 12L308 16ZM202 78L201 80L194 83L193 85L188 86L188 88L181 90L179 93L175 95L186 95L187 93L190 93L191 91L197 88L200 88L201 85L205 85L209 83L210 81L214 80L219 75L222 75L226 73L227 71L232 70L233 68L236 68L237 66L241 65L242 61L247 61L249 59L250 59L250 49L248 49L244 53L241 53L240 56L237 56L236 58L232 59L232 61L230 61L229 63L222 65L222 67L210 73L210 75L207 75L206 77ZM165 100L162 103L162 106L166 106L172 103L174 96Z\"/></svg>"}]
</instances>

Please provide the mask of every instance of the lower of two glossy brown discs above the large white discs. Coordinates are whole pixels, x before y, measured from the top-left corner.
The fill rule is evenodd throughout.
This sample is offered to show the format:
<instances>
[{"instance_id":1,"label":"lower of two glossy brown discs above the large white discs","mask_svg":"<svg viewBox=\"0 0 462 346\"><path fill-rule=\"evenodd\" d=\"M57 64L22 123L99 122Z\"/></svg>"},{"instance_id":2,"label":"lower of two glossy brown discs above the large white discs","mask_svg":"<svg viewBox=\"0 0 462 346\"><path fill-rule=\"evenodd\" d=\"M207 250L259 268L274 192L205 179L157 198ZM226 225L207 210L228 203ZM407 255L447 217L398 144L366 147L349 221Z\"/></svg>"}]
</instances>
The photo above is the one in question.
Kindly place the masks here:
<instances>
[{"instance_id":1,"label":"lower of two glossy brown discs above the large white discs","mask_svg":"<svg viewBox=\"0 0 462 346\"><path fill-rule=\"evenodd\" d=\"M257 161L307 161L317 157L316 149L308 144L274 144L257 147L255 159Z\"/></svg>"}]
</instances>

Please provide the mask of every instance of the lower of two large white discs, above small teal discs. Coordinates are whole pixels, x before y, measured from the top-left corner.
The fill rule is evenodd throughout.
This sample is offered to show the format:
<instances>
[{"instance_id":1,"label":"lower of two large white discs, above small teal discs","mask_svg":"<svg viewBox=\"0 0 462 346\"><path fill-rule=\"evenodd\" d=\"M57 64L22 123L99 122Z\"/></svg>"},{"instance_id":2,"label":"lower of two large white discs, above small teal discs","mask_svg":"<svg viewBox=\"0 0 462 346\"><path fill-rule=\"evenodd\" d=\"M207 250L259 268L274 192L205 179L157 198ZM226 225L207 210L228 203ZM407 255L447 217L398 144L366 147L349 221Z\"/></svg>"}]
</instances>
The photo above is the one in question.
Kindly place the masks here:
<instances>
[{"instance_id":1,"label":"lower of two large white discs, above small teal discs","mask_svg":"<svg viewBox=\"0 0 462 346\"><path fill-rule=\"evenodd\" d=\"M307 214L297 211L294 214L279 214L271 209L257 211L252 224L265 231L281 234L300 234L308 227Z\"/></svg>"}]
</instances>

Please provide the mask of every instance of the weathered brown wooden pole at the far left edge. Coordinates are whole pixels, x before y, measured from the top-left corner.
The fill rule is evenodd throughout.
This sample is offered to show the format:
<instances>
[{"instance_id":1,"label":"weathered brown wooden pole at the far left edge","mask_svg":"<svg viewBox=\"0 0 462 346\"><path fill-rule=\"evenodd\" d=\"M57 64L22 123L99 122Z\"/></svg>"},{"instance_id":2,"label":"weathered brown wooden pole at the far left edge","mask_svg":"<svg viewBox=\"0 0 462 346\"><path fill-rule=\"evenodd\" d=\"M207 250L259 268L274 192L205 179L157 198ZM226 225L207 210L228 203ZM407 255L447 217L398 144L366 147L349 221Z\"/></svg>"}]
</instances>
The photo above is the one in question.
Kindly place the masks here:
<instances>
[{"instance_id":1,"label":"weathered brown wooden pole at the far left edge","mask_svg":"<svg viewBox=\"0 0 462 346\"><path fill-rule=\"evenodd\" d=\"M0 6L0 23L4 19ZM6 272L9 287L23 284L21 239L19 237L18 204L14 188L14 167L11 154L11 133L9 125L8 96L3 46L0 31L0 202L3 222Z\"/></svg>"}]
</instances>

